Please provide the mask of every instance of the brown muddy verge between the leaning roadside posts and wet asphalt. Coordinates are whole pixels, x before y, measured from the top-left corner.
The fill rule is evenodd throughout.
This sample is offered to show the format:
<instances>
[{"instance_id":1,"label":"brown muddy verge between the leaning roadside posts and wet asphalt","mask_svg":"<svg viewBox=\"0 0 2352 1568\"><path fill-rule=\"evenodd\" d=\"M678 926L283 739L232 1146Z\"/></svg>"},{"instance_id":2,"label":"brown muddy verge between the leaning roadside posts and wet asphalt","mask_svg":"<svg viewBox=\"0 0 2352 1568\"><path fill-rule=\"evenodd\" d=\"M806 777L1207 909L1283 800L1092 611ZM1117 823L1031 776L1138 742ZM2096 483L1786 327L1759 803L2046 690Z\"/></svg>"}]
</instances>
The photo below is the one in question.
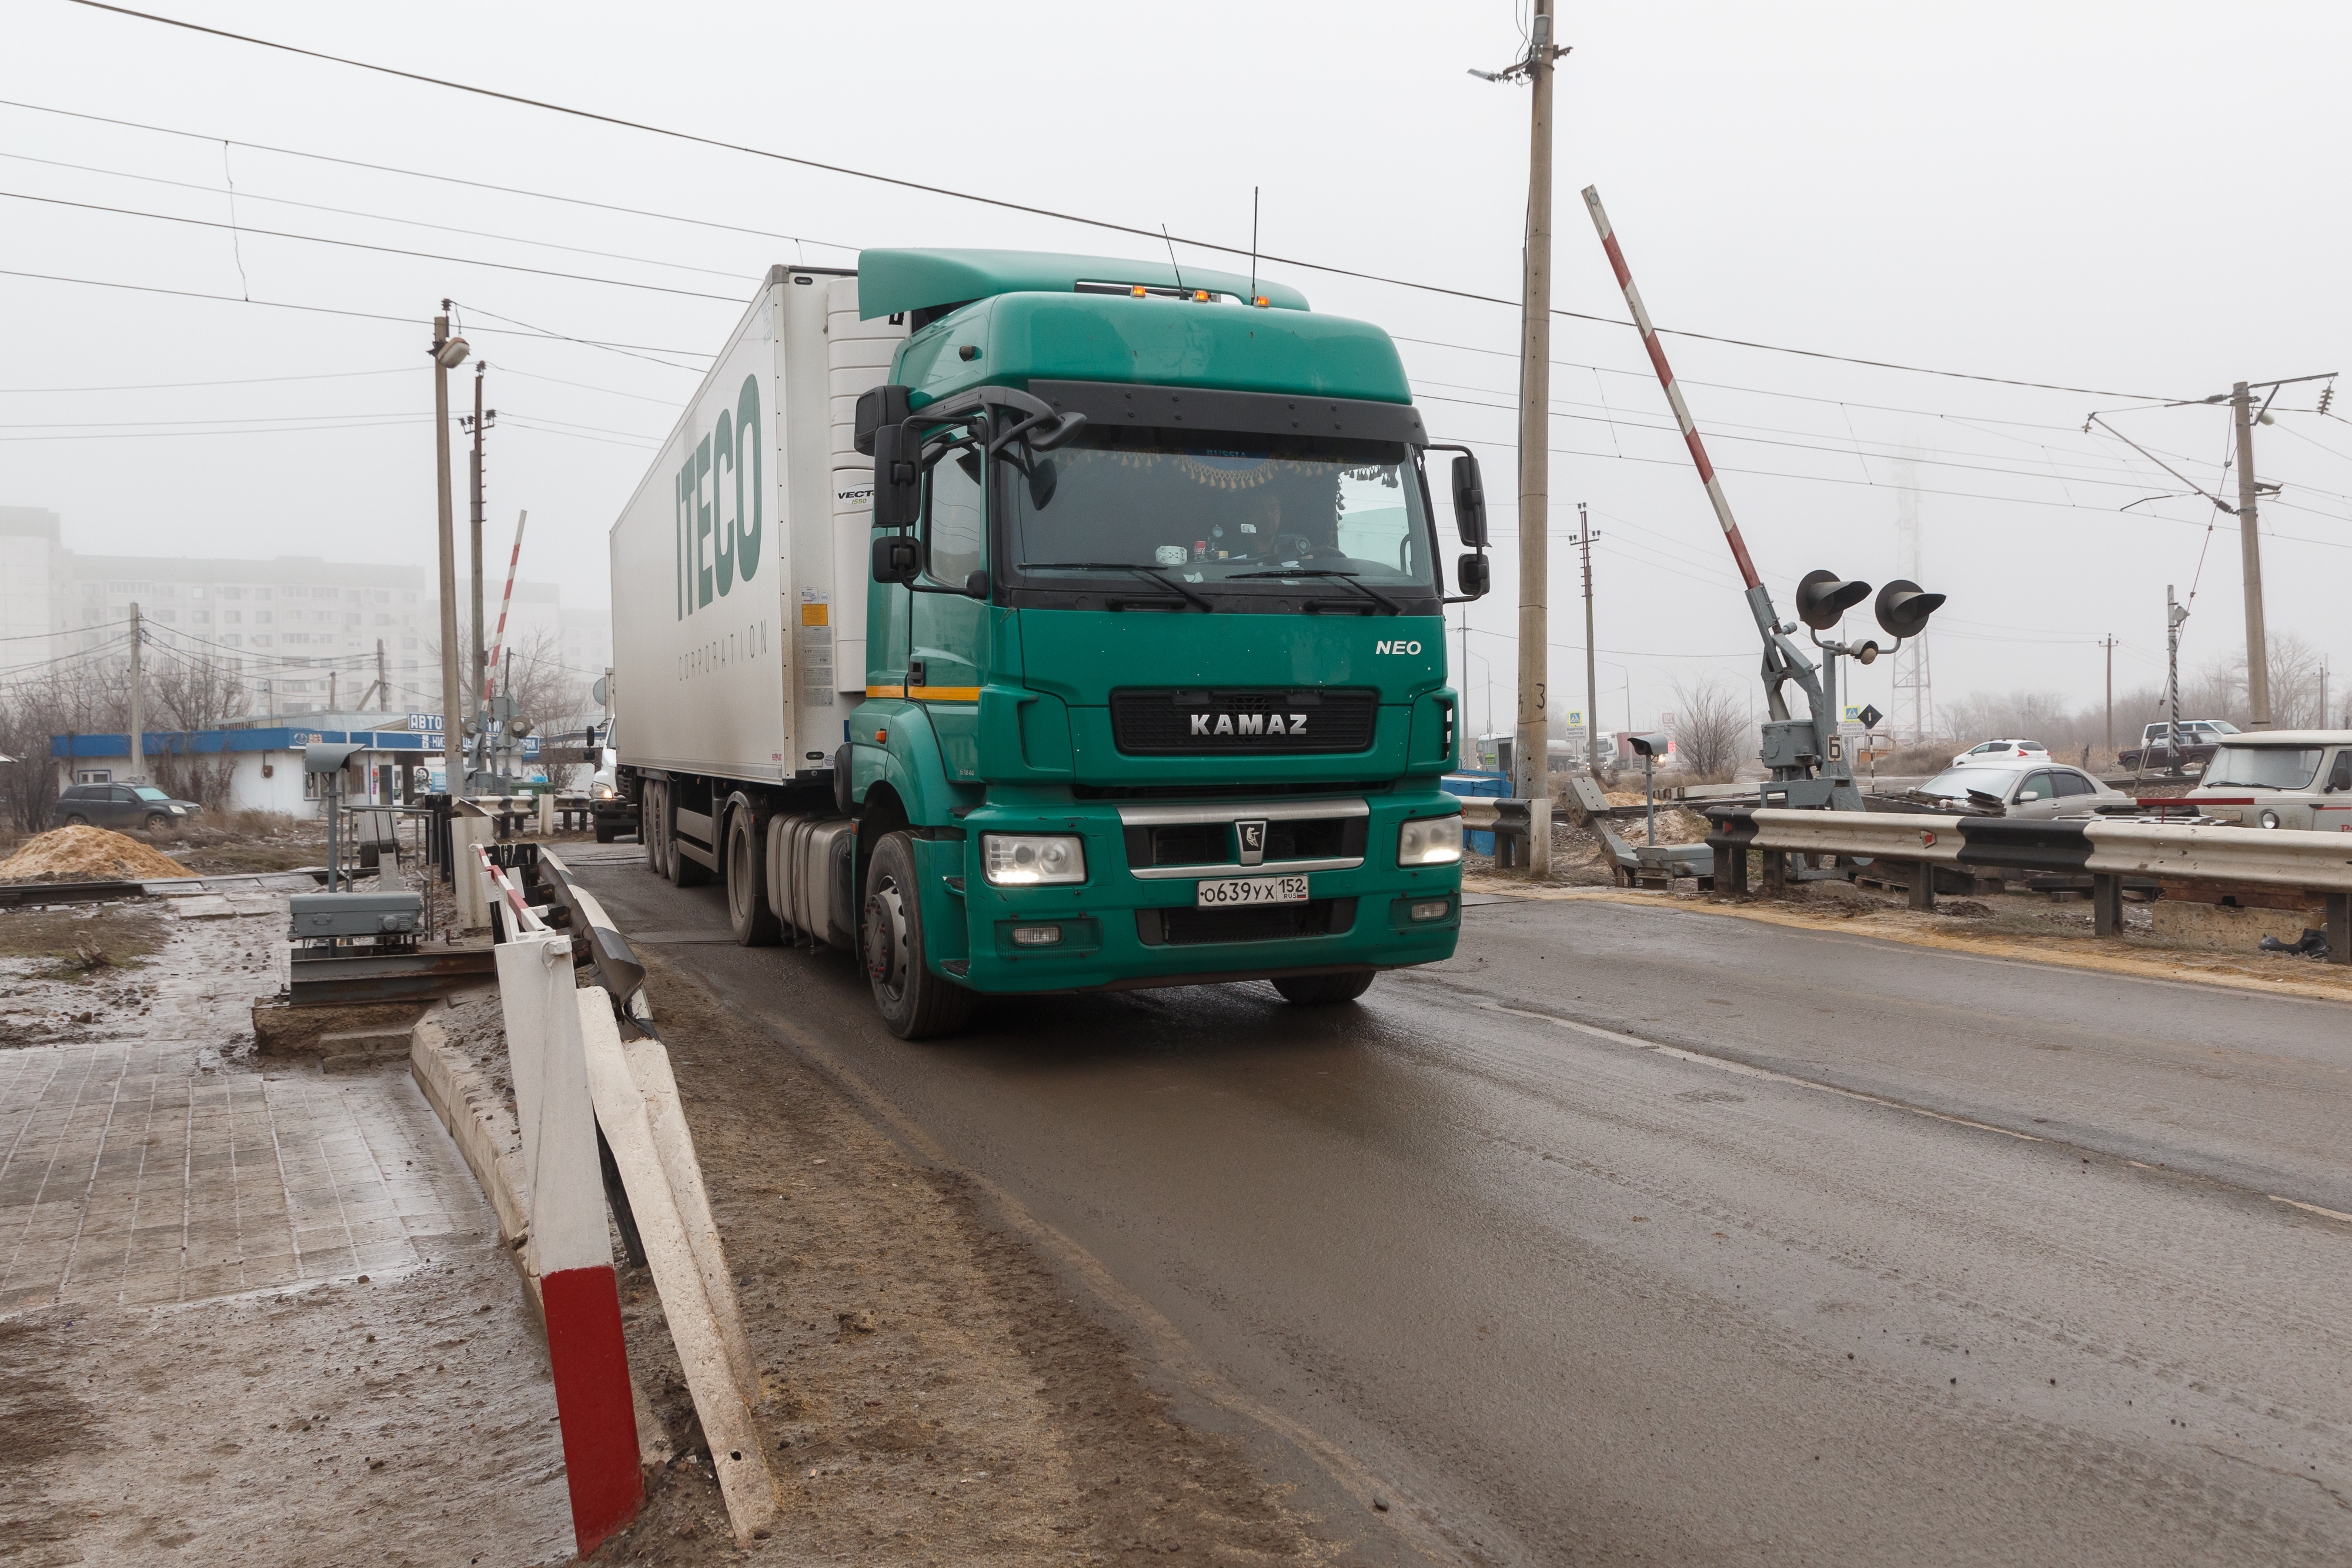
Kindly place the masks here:
<instances>
[{"instance_id":1,"label":"brown muddy verge between the leaning roadside posts and wet asphalt","mask_svg":"<svg viewBox=\"0 0 2352 1568\"><path fill-rule=\"evenodd\" d=\"M649 973L786 1514L734 1544L652 1276L623 1269L630 1363L677 1460L612 1561L1355 1561L1235 1439L1174 1420L964 1180L659 954Z\"/></svg>"}]
</instances>

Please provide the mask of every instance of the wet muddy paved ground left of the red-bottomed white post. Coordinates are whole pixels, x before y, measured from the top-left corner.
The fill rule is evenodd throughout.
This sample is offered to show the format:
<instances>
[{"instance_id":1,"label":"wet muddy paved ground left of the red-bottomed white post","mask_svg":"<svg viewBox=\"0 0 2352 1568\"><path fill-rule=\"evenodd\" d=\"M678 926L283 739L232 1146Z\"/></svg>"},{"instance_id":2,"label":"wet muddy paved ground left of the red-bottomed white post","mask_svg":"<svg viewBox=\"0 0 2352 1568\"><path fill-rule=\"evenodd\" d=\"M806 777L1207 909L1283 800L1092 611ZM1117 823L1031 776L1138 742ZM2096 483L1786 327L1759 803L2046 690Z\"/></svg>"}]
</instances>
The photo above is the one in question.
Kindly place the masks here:
<instances>
[{"instance_id":1,"label":"wet muddy paved ground left of the red-bottomed white post","mask_svg":"<svg viewBox=\"0 0 2352 1568\"><path fill-rule=\"evenodd\" d=\"M567 1559L543 1340L456 1147L405 1065L254 1058L282 896L174 903L0 910L0 1563Z\"/></svg>"}]
</instances>

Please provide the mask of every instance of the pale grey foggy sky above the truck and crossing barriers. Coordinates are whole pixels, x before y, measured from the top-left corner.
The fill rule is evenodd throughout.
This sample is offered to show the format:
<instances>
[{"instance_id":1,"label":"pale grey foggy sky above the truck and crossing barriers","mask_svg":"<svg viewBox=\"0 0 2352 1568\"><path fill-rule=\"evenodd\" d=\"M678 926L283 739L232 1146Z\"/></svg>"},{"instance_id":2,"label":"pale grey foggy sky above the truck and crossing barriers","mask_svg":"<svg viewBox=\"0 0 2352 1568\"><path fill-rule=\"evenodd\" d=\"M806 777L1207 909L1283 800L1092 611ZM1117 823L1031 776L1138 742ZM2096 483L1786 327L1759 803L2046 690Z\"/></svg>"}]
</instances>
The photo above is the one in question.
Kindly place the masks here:
<instances>
[{"instance_id":1,"label":"pale grey foggy sky above the truck and crossing barriers","mask_svg":"<svg viewBox=\"0 0 2352 1568\"><path fill-rule=\"evenodd\" d=\"M158 0L158 9L1242 247L1258 186L1265 252L1505 299L1519 289L1526 92L1465 75L1519 54L1519 24L1503 2L649 12ZM1952 597L1933 639L1945 701L2030 686L2089 703L2107 632L2122 637L2119 689L2159 679L2166 583L2183 595L2197 583L2185 663L2241 649L2234 520L2194 496L2117 510L2183 487L2082 423L2093 409L2138 409L2110 418L2220 489L2227 411L2145 404L2340 367L2347 179L2336 101L2352 59L2343 7L1569 5L1557 35L1573 45L1559 78L1559 308L1623 320L1576 195L1597 183L1663 327L2093 388L2030 390L1665 339L1783 614L1811 567L1893 574L1896 484L1907 473L1922 491L1922 578ZM0 190L14 193L0 200L0 268L400 317L0 277L9 317L0 505L61 512L66 543L87 552L430 567L426 320L452 296L501 411L489 552L503 567L515 510L529 508L524 576L562 583L567 602L602 602L604 531L699 381L677 367L720 346L769 263L847 266L861 244L1164 254L1131 235L61 0L9 7L0 99L195 132L0 106ZM797 240L223 148L221 136ZM235 221L245 233L21 195ZM1178 256L1247 268L1211 252ZM1470 611L1461 684L1484 726L1491 677L1494 712L1508 724L1515 310L1296 266L1265 270L1319 310L1418 339L1402 350L1432 435L1496 442L1482 449L1501 501L1496 592ZM489 331L510 322L680 353ZM1635 334L1562 320L1552 353L1566 362L1552 371L1550 437L1555 708L1583 705L1578 569L1566 545L1576 501L1590 503L1602 536L1604 724L1618 726L1628 703L1649 724L1672 705L1677 677L1717 672L1752 686L1755 630ZM268 376L332 378L33 390ZM454 381L470 397L470 376ZM2288 411L2312 397L2314 388L2288 388L2279 423L2260 433L2258 473L2286 487L2265 503L2270 625L2343 665L2352 425ZM327 423L346 428L318 428ZM2209 524L2220 527L2209 534ZM1458 632L1449 646L1458 656ZM1889 670L1860 672L1853 696L1891 708Z\"/></svg>"}]
</instances>

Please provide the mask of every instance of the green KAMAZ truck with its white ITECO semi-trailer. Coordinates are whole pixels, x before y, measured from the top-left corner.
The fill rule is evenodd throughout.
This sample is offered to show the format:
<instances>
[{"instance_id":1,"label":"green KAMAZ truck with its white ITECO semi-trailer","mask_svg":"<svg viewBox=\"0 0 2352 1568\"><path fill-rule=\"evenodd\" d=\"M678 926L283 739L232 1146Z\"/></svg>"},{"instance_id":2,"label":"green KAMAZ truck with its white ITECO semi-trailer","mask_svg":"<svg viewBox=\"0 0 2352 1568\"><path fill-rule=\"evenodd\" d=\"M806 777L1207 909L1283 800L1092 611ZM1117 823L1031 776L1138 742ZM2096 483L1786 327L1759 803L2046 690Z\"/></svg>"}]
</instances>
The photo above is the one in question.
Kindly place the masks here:
<instances>
[{"instance_id":1,"label":"green KAMAZ truck with its white ITECO semi-trailer","mask_svg":"<svg viewBox=\"0 0 2352 1568\"><path fill-rule=\"evenodd\" d=\"M1449 569L1435 447L1388 334L1282 284L774 268L612 529L647 867L724 882L746 945L854 952L903 1037L1449 957L1442 607L1486 520L1446 447Z\"/></svg>"}]
</instances>

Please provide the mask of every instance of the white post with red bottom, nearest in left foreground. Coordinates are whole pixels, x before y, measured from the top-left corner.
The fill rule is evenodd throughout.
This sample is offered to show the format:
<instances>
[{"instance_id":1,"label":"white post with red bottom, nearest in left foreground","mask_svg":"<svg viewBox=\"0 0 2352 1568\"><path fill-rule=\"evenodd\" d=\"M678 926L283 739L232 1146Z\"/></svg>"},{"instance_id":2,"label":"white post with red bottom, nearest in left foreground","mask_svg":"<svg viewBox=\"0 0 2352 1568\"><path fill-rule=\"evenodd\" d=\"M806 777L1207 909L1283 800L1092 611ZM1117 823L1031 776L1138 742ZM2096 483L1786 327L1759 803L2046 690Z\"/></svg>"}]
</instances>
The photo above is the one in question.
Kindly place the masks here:
<instances>
[{"instance_id":1,"label":"white post with red bottom, nearest in left foreground","mask_svg":"<svg viewBox=\"0 0 2352 1568\"><path fill-rule=\"evenodd\" d=\"M621 1288L604 1227L604 1168L572 938L550 931L506 872L480 856L480 875L506 940L496 947L506 1053L522 1128L529 1265L548 1321L548 1368L562 1422L572 1535L593 1554L637 1516L637 1413L628 1394Z\"/></svg>"}]
</instances>

